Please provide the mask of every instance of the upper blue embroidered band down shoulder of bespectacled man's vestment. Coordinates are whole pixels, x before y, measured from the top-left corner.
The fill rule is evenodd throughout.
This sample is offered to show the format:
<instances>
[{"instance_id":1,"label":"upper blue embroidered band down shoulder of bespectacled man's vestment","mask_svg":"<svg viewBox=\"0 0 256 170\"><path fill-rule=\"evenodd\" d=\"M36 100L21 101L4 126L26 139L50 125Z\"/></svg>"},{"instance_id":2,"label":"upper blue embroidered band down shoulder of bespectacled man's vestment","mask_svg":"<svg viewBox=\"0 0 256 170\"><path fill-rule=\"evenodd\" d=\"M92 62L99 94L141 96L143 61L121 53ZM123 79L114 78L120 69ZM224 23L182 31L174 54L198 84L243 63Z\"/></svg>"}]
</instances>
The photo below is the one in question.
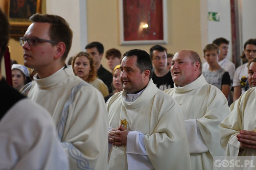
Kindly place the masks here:
<instances>
[{"instance_id":1,"label":"upper blue embroidered band down shoulder of bespectacled man's vestment","mask_svg":"<svg viewBox=\"0 0 256 170\"><path fill-rule=\"evenodd\" d=\"M57 124L57 132L58 132L58 136L61 141L62 141L66 121L68 118L68 107L71 103L73 103L74 96L75 96L76 92L81 88L82 85L84 85L84 83L80 82L77 86L72 88L71 94L69 95L67 101L65 102L62 112L60 114L60 120Z\"/></svg>"}]
</instances>

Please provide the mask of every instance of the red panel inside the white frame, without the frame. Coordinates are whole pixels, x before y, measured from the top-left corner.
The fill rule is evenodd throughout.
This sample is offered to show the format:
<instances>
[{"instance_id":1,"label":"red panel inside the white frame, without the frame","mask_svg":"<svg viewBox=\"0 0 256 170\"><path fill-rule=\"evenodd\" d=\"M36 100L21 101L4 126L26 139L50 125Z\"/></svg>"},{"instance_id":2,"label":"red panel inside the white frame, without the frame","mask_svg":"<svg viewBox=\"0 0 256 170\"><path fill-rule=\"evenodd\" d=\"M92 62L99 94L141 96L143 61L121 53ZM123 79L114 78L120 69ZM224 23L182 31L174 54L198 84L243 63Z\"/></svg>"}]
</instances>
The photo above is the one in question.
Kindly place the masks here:
<instances>
[{"instance_id":1,"label":"red panel inside the white frame, without the frame","mask_svg":"<svg viewBox=\"0 0 256 170\"><path fill-rule=\"evenodd\" d=\"M163 40L162 0L123 0L124 41Z\"/></svg>"}]
</instances>

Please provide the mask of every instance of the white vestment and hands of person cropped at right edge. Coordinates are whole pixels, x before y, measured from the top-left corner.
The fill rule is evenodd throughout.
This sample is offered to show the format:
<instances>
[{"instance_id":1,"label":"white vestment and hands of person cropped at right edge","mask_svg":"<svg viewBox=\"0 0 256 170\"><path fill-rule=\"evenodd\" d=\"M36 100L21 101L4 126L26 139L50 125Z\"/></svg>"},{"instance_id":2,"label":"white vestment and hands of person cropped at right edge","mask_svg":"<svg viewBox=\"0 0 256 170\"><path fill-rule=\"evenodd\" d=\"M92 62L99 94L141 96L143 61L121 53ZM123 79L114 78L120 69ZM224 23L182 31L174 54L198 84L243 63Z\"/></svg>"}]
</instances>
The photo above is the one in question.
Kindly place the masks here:
<instances>
[{"instance_id":1,"label":"white vestment and hands of person cropped at right edge","mask_svg":"<svg viewBox=\"0 0 256 170\"><path fill-rule=\"evenodd\" d=\"M226 156L256 156L256 87L245 91L230 106L230 114L219 124Z\"/></svg>"}]
</instances>

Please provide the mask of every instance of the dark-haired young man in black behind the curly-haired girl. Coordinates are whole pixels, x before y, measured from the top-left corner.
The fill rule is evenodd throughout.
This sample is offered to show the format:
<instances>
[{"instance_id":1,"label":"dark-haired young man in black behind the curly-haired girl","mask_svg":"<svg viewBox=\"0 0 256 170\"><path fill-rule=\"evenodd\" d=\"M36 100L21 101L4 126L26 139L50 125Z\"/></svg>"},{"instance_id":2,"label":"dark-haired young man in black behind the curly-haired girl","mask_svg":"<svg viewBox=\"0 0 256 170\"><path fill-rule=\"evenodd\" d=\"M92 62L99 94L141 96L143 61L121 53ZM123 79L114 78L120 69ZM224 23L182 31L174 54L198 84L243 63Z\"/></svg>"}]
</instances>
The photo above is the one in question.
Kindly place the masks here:
<instances>
[{"instance_id":1,"label":"dark-haired young man in black behind the curly-haired girl","mask_svg":"<svg viewBox=\"0 0 256 170\"><path fill-rule=\"evenodd\" d=\"M101 43L94 41L85 46L86 52L90 54L90 56L93 58L96 70L97 70L97 75L100 80L102 80L106 86L109 88L109 93L112 93L112 73L106 70L102 65L101 65L101 59L104 53L104 47Z\"/></svg>"}]
</instances>

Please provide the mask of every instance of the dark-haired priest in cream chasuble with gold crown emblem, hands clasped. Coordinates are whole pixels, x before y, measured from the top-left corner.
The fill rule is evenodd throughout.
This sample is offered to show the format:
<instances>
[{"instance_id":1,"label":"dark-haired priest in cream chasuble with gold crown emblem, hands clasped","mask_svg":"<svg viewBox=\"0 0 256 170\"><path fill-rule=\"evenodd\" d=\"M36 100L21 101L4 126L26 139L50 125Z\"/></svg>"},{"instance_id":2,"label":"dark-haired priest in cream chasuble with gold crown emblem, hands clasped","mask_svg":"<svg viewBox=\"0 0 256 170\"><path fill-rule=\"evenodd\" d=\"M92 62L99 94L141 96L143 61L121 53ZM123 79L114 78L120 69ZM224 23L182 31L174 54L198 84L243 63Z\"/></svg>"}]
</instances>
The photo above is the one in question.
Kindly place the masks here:
<instances>
[{"instance_id":1,"label":"dark-haired priest in cream chasuble with gold crown emblem, hands clasped","mask_svg":"<svg viewBox=\"0 0 256 170\"><path fill-rule=\"evenodd\" d=\"M152 61L130 50L121 62L124 90L107 102L109 170L189 170L189 149L179 104L153 83Z\"/></svg>"}]
</instances>

